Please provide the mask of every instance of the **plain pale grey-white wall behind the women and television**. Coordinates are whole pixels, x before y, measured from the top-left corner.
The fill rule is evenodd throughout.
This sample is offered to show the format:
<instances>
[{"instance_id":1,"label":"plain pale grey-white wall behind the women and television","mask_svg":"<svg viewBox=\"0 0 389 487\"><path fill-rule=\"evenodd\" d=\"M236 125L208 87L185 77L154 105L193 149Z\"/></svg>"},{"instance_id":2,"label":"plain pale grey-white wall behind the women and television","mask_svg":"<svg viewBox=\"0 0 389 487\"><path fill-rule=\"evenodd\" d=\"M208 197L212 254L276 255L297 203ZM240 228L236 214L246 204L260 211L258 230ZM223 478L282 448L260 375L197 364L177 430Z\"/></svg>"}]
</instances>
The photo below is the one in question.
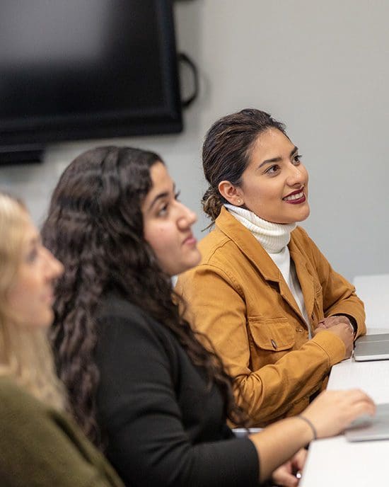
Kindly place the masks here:
<instances>
[{"instance_id":1,"label":"plain pale grey-white wall behind the women and television","mask_svg":"<svg viewBox=\"0 0 389 487\"><path fill-rule=\"evenodd\" d=\"M176 2L178 44L197 63L202 92L185 132L115 139L158 151L182 200L207 222L200 151L216 118L253 106L286 122L310 172L304 227L349 279L388 273L389 4L368 0ZM1 186L23 196L39 223L59 174L84 149L60 144L41 166L0 168Z\"/></svg>"}]
</instances>

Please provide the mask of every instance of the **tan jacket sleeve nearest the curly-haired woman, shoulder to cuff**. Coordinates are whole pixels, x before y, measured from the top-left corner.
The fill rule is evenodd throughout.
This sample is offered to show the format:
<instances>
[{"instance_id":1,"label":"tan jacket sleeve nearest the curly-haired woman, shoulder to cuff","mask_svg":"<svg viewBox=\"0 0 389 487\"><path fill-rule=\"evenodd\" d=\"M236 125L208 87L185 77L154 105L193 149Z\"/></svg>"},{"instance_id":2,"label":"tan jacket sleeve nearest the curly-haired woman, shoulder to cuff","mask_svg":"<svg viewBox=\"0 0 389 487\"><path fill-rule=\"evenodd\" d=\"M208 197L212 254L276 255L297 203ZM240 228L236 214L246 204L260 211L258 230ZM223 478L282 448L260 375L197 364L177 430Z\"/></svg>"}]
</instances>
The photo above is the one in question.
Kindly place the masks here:
<instances>
[{"instance_id":1,"label":"tan jacket sleeve nearest the curly-haired woman, shoulder to cuff","mask_svg":"<svg viewBox=\"0 0 389 487\"><path fill-rule=\"evenodd\" d=\"M228 269L199 265L180 277L176 290L190 303L188 319L208 336L234 378L237 402L257 424L279 418L308 398L344 358L342 340L323 331L274 364L253 370L244 292Z\"/></svg>"}]
</instances>

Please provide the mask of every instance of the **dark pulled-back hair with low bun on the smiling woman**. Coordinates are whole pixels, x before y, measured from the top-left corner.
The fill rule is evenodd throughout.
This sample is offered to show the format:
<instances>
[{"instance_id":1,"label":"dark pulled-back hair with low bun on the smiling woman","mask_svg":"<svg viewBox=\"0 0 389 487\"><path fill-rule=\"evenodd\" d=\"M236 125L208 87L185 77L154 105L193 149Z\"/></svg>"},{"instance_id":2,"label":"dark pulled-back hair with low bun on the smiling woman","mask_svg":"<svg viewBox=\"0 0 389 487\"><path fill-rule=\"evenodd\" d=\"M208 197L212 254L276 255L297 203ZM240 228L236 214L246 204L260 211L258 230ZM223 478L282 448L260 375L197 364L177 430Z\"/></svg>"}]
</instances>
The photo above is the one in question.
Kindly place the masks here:
<instances>
[{"instance_id":1,"label":"dark pulled-back hair with low bun on the smiling woman","mask_svg":"<svg viewBox=\"0 0 389 487\"><path fill-rule=\"evenodd\" d=\"M230 181L240 185L257 137L270 128L286 135L285 125L269 113L245 108L216 120L207 132L202 147L202 166L209 187L202 197L202 207L212 222L219 216L223 204L228 203L219 193L219 183Z\"/></svg>"}]
</instances>

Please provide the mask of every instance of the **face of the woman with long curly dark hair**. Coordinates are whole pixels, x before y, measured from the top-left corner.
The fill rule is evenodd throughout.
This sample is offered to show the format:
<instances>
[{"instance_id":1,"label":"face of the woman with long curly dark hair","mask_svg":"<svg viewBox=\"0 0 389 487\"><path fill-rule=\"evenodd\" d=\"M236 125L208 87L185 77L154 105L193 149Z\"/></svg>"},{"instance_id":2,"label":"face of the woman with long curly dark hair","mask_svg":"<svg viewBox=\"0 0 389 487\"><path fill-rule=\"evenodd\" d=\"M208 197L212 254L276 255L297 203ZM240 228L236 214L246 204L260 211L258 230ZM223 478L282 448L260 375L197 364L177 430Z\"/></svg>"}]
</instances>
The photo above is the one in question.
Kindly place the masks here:
<instances>
[{"instance_id":1,"label":"face of the woman with long curly dark hair","mask_svg":"<svg viewBox=\"0 0 389 487\"><path fill-rule=\"evenodd\" d=\"M153 186L142 205L144 239L162 270L173 276L199 263L191 230L197 217L177 200L175 185L161 162L151 166L150 174Z\"/></svg>"}]
</instances>

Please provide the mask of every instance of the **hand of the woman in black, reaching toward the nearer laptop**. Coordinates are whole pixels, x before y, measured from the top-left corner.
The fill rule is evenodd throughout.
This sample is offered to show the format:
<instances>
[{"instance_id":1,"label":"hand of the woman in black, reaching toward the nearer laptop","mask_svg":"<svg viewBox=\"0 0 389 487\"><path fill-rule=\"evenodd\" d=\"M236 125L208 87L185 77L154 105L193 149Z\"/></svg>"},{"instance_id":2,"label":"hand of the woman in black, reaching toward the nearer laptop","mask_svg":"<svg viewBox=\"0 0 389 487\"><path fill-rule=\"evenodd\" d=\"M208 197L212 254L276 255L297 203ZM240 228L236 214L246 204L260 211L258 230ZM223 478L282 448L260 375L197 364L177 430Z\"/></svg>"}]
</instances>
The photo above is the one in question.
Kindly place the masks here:
<instances>
[{"instance_id":1,"label":"hand of the woman in black, reaching toward the nearer laptop","mask_svg":"<svg viewBox=\"0 0 389 487\"><path fill-rule=\"evenodd\" d=\"M300 416L310 420L317 437L338 435L362 414L373 416L376 406L360 389L323 391Z\"/></svg>"}]
</instances>

